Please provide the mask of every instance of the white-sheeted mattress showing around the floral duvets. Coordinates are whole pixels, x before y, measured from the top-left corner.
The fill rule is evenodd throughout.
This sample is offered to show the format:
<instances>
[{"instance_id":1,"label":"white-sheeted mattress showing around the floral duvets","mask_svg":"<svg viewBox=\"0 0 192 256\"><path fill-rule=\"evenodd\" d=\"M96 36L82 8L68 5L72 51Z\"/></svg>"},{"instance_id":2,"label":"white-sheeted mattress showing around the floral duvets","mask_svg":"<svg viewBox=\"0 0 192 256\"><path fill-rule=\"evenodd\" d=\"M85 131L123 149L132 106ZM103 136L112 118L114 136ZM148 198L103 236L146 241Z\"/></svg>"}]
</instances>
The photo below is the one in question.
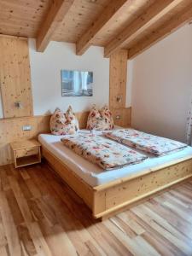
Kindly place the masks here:
<instances>
[{"instance_id":1,"label":"white-sheeted mattress showing around the floral duvets","mask_svg":"<svg viewBox=\"0 0 192 256\"><path fill-rule=\"evenodd\" d=\"M90 131L79 131L82 133ZM97 133L101 131L95 131ZM55 136L51 134L40 134L38 136L38 141L55 155L59 160L65 163L73 172L75 172L79 177L81 177L85 183L90 184L90 186L95 187L104 183L112 182L116 179L127 177L131 174L137 174L138 172L143 172L148 168L162 166L164 164L169 164L172 160L179 160L183 157L192 158L192 147L186 147L182 150L174 152L172 154L167 154L164 156L155 157L148 155L147 160L138 163L136 165L125 166L120 169L114 169L110 171L105 171L99 166L90 163L78 154L75 154L71 149L64 146L61 143L61 138L63 136ZM142 152L142 154L145 154Z\"/></svg>"}]
</instances>

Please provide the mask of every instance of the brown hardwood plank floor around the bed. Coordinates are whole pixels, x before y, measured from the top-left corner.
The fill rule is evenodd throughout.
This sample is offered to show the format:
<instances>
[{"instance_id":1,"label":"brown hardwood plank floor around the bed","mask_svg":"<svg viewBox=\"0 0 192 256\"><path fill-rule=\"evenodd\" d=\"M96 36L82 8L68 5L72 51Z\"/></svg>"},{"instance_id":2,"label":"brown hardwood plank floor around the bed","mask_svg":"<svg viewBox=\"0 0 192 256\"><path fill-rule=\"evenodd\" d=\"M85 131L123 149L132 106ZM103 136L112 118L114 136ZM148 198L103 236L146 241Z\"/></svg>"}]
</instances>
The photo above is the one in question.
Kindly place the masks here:
<instances>
[{"instance_id":1,"label":"brown hardwood plank floor around the bed","mask_svg":"<svg viewBox=\"0 0 192 256\"><path fill-rule=\"evenodd\" d=\"M0 166L0 255L192 255L192 180L99 222L46 164Z\"/></svg>"}]
</instances>

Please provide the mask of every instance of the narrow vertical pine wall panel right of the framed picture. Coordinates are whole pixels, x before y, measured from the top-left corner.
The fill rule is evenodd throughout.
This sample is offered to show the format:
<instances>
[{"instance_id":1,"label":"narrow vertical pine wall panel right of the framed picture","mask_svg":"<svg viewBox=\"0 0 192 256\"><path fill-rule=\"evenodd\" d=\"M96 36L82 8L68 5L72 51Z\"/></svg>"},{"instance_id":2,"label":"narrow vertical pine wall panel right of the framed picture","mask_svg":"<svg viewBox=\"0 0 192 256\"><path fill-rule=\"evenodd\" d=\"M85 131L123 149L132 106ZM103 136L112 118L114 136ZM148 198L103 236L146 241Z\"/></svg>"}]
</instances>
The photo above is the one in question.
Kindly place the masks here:
<instances>
[{"instance_id":1,"label":"narrow vertical pine wall panel right of the framed picture","mask_svg":"<svg viewBox=\"0 0 192 256\"><path fill-rule=\"evenodd\" d=\"M125 49L110 56L109 108L115 125L131 125L131 108L126 104L127 55Z\"/></svg>"}]
</instances>

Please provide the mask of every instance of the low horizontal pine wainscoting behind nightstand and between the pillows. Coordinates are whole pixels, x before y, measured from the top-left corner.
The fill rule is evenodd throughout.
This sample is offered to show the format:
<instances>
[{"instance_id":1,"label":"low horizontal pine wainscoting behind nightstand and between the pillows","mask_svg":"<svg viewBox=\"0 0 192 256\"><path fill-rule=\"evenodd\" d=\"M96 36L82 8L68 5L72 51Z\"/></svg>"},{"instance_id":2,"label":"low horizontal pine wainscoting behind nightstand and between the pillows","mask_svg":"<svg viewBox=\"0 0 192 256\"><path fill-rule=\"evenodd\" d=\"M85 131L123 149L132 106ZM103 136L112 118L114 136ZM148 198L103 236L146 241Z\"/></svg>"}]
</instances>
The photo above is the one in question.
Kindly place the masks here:
<instances>
[{"instance_id":1,"label":"low horizontal pine wainscoting behind nightstand and between the pillows","mask_svg":"<svg viewBox=\"0 0 192 256\"><path fill-rule=\"evenodd\" d=\"M89 112L76 113L80 129L84 129ZM20 142L49 132L50 115L0 119L0 166L13 162L9 143ZM31 131L23 131L24 125L31 125Z\"/></svg>"}]
</instances>

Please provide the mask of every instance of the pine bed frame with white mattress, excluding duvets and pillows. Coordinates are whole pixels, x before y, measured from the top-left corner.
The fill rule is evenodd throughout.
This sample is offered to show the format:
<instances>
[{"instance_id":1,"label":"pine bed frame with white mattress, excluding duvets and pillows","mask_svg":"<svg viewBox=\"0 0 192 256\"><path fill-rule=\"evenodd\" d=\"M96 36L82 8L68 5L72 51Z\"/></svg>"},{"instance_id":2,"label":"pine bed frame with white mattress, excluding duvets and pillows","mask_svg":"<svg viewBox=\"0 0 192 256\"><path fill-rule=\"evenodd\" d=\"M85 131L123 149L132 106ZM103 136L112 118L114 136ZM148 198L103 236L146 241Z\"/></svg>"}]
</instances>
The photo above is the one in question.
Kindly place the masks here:
<instances>
[{"instance_id":1,"label":"pine bed frame with white mattress, excluding duvets and pillows","mask_svg":"<svg viewBox=\"0 0 192 256\"><path fill-rule=\"evenodd\" d=\"M90 131L80 131L83 133ZM84 200L94 218L108 218L144 198L192 177L192 148L103 171L61 143L61 136L41 134L43 156Z\"/></svg>"}]
</instances>

